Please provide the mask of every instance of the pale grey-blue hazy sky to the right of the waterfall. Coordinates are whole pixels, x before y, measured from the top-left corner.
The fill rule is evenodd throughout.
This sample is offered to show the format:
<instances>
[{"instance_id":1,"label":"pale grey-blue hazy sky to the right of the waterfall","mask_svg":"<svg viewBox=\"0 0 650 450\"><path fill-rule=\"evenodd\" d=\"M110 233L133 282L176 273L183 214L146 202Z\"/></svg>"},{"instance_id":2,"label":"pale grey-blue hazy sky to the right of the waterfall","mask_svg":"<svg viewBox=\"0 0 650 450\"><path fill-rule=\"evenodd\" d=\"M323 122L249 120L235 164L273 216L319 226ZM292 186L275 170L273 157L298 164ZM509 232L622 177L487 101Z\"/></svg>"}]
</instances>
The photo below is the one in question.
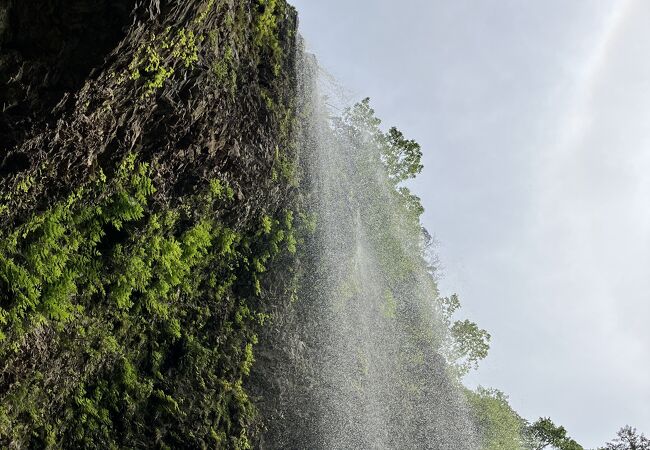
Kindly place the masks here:
<instances>
[{"instance_id":1,"label":"pale grey-blue hazy sky to the right of the waterfall","mask_svg":"<svg viewBox=\"0 0 650 450\"><path fill-rule=\"evenodd\" d=\"M291 0L290 0L291 1ZM467 377L585 447L650 433L650 2L293 0L308 50L422 145Z\"/></svg>"}]
</instances>

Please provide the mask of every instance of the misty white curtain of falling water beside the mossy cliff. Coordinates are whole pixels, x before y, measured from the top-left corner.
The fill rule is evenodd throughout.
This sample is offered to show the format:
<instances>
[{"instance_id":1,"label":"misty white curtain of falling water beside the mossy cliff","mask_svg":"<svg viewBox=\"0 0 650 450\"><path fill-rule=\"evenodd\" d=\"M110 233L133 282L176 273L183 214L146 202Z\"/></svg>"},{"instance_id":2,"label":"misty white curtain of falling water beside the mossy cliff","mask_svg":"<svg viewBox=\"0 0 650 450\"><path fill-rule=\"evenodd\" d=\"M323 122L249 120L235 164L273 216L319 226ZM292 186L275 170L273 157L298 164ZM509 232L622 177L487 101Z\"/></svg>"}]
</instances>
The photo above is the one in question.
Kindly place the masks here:
<instances>
[{"instance_id":1,"label":"misty white curtain of falling water beside the mossy cliff","mask_svg":"<svg viewBox=\"0 0 650 450\"><path fill-rule=\"evenodd\" d=\"M363 114L332 117L315 60L301 66L301 167L316 227L299 300L277 314L277 342L260 356L261 394L273 398L261 406L264 446L476 449L439 351L446 330L419 213L389 179Z\"/></svg>"}]
</instances>

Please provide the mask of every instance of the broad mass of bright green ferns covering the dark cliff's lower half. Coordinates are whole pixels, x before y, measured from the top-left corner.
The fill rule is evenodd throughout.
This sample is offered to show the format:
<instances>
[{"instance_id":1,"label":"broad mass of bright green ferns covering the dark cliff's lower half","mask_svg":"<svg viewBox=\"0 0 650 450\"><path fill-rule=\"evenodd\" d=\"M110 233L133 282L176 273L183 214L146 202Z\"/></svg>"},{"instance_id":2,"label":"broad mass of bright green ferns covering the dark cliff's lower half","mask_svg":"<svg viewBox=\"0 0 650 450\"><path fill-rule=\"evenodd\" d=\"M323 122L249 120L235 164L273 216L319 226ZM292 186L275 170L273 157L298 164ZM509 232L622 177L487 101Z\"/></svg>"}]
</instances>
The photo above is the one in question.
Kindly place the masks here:
<instances>
[{"instance_id":1,"label":"broad mass of bright green ferns covering the dark cliff's lower half","mask_svg":"<svg viewBox=\"0 0 650 450\"><path fill-rule=\"evenodd\" d=\"M70 360L83 375L63 377L61 396L36 373L10 385L0 442L121 447L147 433L177 448L192 427L191 446L251 448L255 409L242 380L266 316L250 303L265 265L295 251L293 214L236 232L217 220L234 201L218 179L189 208L154 211L150 171L129 155L110 181L101 174L2 237L0 354L19 358L51 329L61 358L87 356ZM50 402L64 416L50 416Z\"/></svg>"}]
</instances>

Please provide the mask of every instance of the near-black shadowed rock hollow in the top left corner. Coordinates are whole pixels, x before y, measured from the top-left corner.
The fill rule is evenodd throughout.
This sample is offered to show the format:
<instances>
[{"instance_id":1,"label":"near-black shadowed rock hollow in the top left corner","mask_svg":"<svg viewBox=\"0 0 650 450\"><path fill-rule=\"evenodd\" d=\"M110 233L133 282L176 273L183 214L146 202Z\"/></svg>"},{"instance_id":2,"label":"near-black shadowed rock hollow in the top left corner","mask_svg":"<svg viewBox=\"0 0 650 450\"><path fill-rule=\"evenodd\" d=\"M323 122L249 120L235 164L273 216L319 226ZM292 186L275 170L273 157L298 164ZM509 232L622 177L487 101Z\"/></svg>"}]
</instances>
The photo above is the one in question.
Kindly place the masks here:
<instances>
[{"instance_id":1,"label":"near-black shadowed rock hollow in the top left corner","mask_svg":"<svg viewBox=\"0 0 650 450\"><path fill-rule=\"evenodd\" d=\"M0 6L0 101L3 150L27 129L51 119L65 92L74 92L124 38L129 1L5 0ZM5 172L19 167L5 165Z\"/></svg>"}]
</instances>

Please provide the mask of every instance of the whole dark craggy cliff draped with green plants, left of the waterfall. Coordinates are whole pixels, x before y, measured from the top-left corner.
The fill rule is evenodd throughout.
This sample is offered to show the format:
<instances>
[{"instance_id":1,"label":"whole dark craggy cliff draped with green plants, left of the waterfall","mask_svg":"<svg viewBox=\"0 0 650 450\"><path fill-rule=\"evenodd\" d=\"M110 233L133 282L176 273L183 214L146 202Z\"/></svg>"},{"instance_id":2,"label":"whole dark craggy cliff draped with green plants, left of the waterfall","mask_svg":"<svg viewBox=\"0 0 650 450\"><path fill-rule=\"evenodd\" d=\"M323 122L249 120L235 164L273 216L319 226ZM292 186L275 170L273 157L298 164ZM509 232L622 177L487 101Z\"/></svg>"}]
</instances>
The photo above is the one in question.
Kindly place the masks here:
<instances>
[{"instance_id":1,"label":"whole dark craggy cliff draped with green plants, left of the waterfall","mask_svg":"<svg viewBox=\"0 0 650 450\"><path fill-rule=\"evenodd\" d=\"M295 33L284 0L0 0L0 447L251 445Z\"/></svg>"}]
</instances>

